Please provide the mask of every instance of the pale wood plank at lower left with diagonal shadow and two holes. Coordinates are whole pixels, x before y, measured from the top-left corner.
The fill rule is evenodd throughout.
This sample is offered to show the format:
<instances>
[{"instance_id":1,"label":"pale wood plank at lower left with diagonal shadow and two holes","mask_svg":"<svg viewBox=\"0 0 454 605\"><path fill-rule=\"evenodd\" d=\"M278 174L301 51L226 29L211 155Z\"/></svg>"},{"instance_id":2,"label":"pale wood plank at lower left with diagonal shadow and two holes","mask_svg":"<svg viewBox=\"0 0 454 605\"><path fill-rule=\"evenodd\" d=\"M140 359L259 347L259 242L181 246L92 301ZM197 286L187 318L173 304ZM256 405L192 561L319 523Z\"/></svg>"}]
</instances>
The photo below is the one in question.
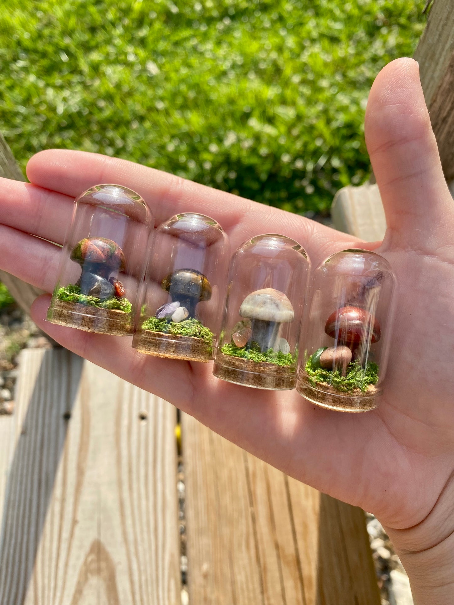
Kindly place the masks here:
<instances>
[{"instance_id":1,"label":"pale wood plank at lower left with diagonal shadow and two holes","mask_svg":"<svg viewBox=\"0 0 454 605\"><path fill-rule=\"evenodd\" d=\"M180 603L175 408L64 349L21 353L16 405L0 603Z\"/></svg>"}]
</instances>

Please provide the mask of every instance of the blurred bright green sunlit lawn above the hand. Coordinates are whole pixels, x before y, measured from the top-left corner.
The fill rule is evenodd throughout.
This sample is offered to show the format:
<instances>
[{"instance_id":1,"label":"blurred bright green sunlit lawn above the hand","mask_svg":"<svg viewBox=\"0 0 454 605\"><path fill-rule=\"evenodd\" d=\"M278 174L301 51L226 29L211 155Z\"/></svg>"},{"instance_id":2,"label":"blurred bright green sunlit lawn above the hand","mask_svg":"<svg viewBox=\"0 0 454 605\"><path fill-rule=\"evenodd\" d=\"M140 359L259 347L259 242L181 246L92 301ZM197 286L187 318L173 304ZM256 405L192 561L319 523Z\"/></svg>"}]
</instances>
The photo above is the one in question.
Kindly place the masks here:
<instances>
[{"instance_id":1,"label":"blurred bright green sunlit lawn above the hand","mask_svg":"<svg viewBox=\"0 0 454 605\"><path fill-rule=\"evenodd\" d=\"M266 204L326 211L369 171L367 94L426 0L3 0L0 123Z\"/></svg>"}]
</instances>

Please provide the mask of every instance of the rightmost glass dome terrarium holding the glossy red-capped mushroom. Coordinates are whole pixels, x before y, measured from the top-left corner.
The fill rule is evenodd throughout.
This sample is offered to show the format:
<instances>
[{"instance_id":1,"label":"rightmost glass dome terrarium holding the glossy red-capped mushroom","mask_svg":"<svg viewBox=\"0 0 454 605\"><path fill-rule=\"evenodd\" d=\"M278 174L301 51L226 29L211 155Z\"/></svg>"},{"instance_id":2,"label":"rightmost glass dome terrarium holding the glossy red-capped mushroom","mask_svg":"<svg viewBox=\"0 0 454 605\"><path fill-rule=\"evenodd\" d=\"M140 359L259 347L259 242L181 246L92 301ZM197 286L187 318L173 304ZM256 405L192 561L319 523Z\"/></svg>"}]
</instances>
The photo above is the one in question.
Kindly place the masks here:
<instances>
[{"instance_id":1,"label":"rightmost glass dome terrarium holding the glossy red-capped mushroom","mask_svg":"<svg viewBox=\"0 0 454 605\"><path fill-rule=\"evenodd\" d=\"M322 407L377 407L386 370L394 278L367 250L343 250L314 272L298 392Z\"/></svg>"}]
</instances>

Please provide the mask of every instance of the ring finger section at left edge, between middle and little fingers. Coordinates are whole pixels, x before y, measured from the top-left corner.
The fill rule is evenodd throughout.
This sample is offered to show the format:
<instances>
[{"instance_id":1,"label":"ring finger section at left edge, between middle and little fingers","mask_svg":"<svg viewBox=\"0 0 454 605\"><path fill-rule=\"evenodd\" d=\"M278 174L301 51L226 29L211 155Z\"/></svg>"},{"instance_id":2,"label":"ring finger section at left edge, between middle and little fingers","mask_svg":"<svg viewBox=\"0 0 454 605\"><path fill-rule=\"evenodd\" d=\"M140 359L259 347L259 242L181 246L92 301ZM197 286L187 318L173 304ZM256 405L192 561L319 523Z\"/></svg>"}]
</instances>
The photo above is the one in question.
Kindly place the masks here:
<instances>
[{"instance_id":1,"label":"ring finger section at left edge, between middle and little fingers","mask_svg":"<svg viewBox=\"0 0 454 605\"><path fill-rule=\"evenodd\" d=\"M52 292L61 248L0 225L0 269L45 292Z\"/></svg>"}]
</instances>

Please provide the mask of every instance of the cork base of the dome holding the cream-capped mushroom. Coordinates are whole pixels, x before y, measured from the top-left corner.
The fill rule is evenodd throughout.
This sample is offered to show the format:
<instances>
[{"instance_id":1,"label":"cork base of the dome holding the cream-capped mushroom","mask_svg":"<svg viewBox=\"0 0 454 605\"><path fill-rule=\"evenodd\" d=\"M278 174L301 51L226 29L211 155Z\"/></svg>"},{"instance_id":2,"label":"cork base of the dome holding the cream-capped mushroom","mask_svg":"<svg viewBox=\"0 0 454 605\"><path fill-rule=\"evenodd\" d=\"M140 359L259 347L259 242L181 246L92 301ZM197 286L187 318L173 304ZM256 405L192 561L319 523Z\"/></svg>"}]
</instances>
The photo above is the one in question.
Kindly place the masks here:
<instances>
[{"instance_id":1,"label":"cork base of the dome holding the cream-capped mushroom","mask_svg":"<svg viewBox=\"0 0 454 605\"><path fill-rule=\"evenodd\" d=\"M263 388L272 391L289 391L295 388L297 376L289 365L255 362L218 352L213 368L214 376L244 387Z\"/></svg>"}]
</instances>

